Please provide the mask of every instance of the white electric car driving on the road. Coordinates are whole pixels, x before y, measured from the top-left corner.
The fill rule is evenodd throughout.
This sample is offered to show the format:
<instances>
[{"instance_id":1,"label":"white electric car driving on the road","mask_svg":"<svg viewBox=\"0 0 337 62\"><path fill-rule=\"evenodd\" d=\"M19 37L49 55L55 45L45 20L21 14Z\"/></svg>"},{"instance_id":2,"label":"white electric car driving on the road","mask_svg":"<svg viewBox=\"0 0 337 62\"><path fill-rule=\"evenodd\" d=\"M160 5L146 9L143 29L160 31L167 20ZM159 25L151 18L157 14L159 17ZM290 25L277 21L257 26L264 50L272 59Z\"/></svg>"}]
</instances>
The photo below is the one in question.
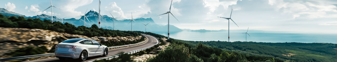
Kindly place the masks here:
<instances>
[{"instance_id":1,"label":"white electric car driving on the road","mask_svg":"<svg viewBox=\"0 0 337 62\"><path fill-rule=\"evenodd\" d=\"M85 61L88 57L107 56L109 48L93 39L68 39L55 45L55 57L60 60L65 58Z\"/></svg>"}]
</instances>

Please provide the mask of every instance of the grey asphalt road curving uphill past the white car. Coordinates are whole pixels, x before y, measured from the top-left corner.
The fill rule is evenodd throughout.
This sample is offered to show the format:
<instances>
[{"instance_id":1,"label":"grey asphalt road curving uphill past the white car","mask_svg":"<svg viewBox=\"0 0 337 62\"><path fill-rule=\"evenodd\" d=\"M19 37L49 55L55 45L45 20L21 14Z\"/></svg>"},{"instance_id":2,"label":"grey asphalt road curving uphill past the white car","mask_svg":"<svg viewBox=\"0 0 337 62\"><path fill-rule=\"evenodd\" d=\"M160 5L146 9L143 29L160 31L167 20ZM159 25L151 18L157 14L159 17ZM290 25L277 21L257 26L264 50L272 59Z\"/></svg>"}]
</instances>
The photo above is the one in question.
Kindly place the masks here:
<instances>
[{"instance_id":1,"label":"grey asphalt road curving uphill past the white car","mask_svg":"<svg viewBox=\"0 0 337 62\"><path fill-rule=\"evenodd\" d=\"M148 38L148 40L147 40L146 43L143 43L141 45L131 46L131 47L122 47L122 48L118 48L118 49L109 50L109 54L106 57L117 55L120 52L130 52L130 51L134 51L134 50L150 47L152 45L156 45L157 42L159 42L155 37L152 37L152 36L146 35L146 34L142 34L142 35L144 35L146 38ZM103 58L102 55L88 57L87 60L84 61L84 62L92 61L92 60L96 60L96 59L100 59L100 58ZM65 61L66 62L79 62L77 59L66 59ZM25 62L64 62L64 61L61 61L58 58L53 57L53 58L31 60L31 61L25 61Z\"/></svg>"}]
</instances>

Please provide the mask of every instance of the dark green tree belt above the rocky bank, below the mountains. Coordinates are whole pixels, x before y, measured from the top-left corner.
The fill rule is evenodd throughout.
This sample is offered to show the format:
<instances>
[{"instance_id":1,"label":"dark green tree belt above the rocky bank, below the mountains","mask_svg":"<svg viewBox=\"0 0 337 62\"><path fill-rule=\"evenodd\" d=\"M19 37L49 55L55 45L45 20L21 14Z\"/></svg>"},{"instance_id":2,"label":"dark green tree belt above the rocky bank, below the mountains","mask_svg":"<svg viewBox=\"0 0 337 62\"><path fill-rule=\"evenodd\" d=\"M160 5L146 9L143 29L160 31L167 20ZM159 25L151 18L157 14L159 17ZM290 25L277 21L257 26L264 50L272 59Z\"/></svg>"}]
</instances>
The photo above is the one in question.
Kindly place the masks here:
<instances>
[{"instance_id":1,"label":"dark green tree belt above the rocky bank, below the mountains","mask_svg":"<svg viewBox=\"0 0 337 62\"><path fill-rule=\"evenodd\" d=\"M93 24L91 27L78 26L61 22L51 22L50 20L40 20L40 19L31 19L24 17L5 17L0 14L0 27L5 28L28 28L28 29L43 29L51 30L56 32L63 32L68 34L77 34L84 35L87 37L101 36L101 37L126 37L126 36L141 36L140 33L134 31L119 31L119 30L110 30L98 28L96 24Z\"/></svg>"}]
</instances>

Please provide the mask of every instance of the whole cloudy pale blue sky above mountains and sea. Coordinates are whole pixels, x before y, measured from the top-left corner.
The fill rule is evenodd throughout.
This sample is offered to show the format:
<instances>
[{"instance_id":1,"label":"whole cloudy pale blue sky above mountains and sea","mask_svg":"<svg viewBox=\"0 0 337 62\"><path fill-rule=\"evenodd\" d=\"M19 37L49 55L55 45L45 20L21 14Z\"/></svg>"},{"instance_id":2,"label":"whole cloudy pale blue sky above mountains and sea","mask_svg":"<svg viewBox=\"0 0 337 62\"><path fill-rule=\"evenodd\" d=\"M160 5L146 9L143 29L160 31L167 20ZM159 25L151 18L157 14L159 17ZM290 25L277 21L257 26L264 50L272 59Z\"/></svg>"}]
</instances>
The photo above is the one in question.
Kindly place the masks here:
<instances>
[{"instance_id":1,"label":"whole cloudy pale blue sky above mountains and sea","mask_svg":"<svg viewBox=\"0 0 337 62\"><path fill-rule=\"evenodd\" d=\"M52 0L54 16L75 17L88 10L98 11L98 0ZM101 0L101 15L121 19L152 18L166 25L171 0ZM50 0L1 0L0 8L26 16L51 14ZM293 33L337 34L337 0L173 0L170 24L181 29L231 29L287 31ZM121 20L119 19L119 20Z\"/></svg>"}]
</instances>

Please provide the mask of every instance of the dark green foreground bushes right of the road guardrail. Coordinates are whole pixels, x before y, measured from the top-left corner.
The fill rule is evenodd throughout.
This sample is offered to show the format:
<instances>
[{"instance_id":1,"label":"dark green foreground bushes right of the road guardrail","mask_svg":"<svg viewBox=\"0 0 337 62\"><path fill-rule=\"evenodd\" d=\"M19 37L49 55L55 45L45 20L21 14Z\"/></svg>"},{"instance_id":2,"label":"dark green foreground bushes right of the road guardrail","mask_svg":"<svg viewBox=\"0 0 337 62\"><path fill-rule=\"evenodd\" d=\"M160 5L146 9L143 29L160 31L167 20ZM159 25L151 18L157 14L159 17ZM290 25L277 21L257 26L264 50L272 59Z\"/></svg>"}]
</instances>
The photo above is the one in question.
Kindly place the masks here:
<instances>
[{"instance_id":1,"label":"dark green foreground bushes right of the road guardrail","mask_svg":"<svg viewBox=\"0 0 337 62\"><path fill-rule=\"evenodd\" d=\"M202 43L189 44L173 38L166 41L172 44L148 62L284 62L268 56L225 51Z\"/></svg>"}]
</instances>

